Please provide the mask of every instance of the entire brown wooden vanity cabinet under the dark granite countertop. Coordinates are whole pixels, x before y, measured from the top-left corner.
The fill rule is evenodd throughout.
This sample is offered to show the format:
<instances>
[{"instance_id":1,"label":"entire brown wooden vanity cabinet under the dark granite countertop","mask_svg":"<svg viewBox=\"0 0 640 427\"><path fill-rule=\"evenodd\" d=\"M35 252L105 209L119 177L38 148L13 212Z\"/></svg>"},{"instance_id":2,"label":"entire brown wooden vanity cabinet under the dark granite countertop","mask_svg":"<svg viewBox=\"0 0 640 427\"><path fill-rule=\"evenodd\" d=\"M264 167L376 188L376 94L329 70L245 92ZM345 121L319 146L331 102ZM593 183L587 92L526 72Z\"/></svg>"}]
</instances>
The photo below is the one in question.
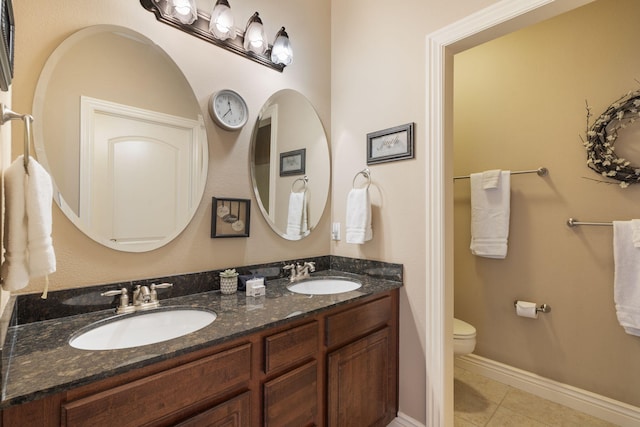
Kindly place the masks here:
<instances>
[{"instance_id":1,"label":"entire brown wooden vanity cabinet under the dark granite countertop","mask_svg":"<svg viewBox=\"0 0 640 427\"><path fill-rule=\"evenodd\" d=\"M0 427L386 426L398 290L2 411Z\"/></svg>"}]
</instances>

